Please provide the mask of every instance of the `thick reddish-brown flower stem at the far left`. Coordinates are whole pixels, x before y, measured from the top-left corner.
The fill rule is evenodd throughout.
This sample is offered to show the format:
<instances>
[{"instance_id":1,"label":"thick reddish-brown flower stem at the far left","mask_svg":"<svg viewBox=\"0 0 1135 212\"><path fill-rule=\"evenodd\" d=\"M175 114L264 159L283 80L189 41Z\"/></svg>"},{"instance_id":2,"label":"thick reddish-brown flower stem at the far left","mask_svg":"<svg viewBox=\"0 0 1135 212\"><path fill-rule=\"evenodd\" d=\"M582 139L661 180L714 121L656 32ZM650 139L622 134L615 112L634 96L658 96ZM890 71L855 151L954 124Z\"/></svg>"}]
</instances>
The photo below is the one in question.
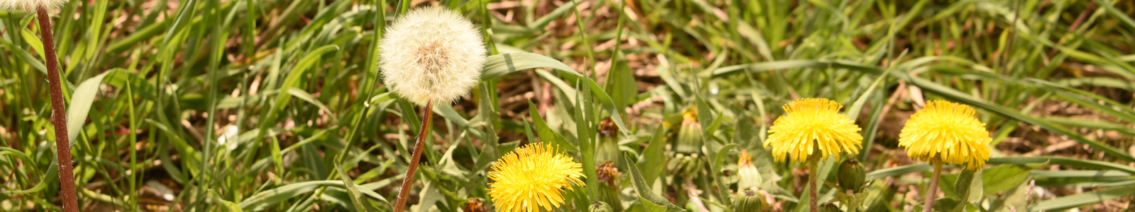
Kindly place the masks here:
<instances>
[{"instance_id":1,"label":"thick reddish-brown flower stem at the far left","mask_svg":"<svg viewBox=\"0 0 1135 212\"><path fill-rule=\"evenodd\" d=\"M70 142L67 138L67 108L59 77L59 61L56 58L56 41L51 36L51 19L42 6L35 10L40 23L40 39L43 41L43 58L48 65L48 87L51 94L51 121L56 127L56 157L59 162L59 194L64 211L78 212L78 196L75 195L75 173L72 170Z\"/></svg>"}]
</instances>

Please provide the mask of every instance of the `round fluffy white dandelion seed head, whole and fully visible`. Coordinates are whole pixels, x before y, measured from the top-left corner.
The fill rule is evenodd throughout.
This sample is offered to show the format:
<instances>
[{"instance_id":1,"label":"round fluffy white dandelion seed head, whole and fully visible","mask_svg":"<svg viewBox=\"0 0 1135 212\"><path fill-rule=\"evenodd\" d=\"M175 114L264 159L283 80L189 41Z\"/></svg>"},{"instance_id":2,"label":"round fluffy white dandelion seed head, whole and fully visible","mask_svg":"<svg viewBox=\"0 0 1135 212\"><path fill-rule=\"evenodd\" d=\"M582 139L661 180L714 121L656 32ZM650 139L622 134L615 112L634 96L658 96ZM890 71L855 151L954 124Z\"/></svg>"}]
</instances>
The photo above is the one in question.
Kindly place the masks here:
<instances>
[{"instance_id":1,"label":"round fluffy white dandelion seed head, whole and fully visible","mask_svg":"<svg viewBox=\"0 0 1135 212\"><path fill-rule=\"evenodd\" d=\"M440 7L406 12L386 28L379 45L382 83L419 106L456 101L477 86L485 65L480 32Z\"/></svg>"}]
</instances>

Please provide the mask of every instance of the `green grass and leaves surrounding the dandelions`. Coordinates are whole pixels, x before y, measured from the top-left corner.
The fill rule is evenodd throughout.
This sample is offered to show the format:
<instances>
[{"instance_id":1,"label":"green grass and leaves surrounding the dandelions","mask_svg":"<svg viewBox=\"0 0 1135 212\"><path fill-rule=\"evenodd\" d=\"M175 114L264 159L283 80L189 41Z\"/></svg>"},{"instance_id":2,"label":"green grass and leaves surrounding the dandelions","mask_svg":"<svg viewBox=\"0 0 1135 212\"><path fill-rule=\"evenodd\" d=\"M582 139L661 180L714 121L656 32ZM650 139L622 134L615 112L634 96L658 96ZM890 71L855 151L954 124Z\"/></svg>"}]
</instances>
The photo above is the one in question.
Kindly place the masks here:
<instances>
[{"instance_id":1,"label":"green grass and leaves surrounding the dandelions","mask_svg":"<svg viewBox=\"0 0 1135 212\"><path fill-rule=\"evenodd\" d=\"M741 150L771 182L771 210L804 211L802 165L760 143L779 106L808 97L864 129L863 153L844 158L874 179L868 211L920 207L908 193L930 166L894 140L928 99L974 106L994 139L985 170L948 168L942 210L1116 211L1135 195L1135 1L125 0L51 12L81 205L390 211L421 117L380 83L376 41L432 3L482 26L491 56L469 98L435 108L412 210L491 205L487 167L536 141L595 185L611 116L634 165L617 180L629 211L731 211ZM33 19L0 11L2 211L59 210ZM688 111L708 165L696 198L662 166ZM594 189L560 210L587 209ZM821 186L822 202L836 196Z\"/></svg>"}]
</instances>

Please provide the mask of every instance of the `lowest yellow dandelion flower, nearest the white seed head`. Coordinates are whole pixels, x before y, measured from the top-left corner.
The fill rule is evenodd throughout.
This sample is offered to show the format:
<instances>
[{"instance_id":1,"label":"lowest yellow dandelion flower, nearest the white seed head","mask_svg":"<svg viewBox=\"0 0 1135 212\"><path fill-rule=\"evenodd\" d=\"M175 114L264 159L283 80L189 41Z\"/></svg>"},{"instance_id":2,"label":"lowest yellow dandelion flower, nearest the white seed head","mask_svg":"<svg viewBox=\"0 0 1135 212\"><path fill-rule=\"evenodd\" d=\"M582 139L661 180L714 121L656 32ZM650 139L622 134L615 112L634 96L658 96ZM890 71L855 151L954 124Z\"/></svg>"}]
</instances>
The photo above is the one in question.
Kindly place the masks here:
<instances>
[{"instance_id":1,"label":"lowest yellow dandelion flower, nearest the white seed head","mask_svg":"<svg viewBox=\"0 0 1135 212\"><path fill-rule=\"evenodd\" d=\"M564 202L570 183L585 185L583 165L556 153L550 144L528 144L505 154L489 173L489 196L502 212L550 211Z\"/></svg>"}]
</instances>

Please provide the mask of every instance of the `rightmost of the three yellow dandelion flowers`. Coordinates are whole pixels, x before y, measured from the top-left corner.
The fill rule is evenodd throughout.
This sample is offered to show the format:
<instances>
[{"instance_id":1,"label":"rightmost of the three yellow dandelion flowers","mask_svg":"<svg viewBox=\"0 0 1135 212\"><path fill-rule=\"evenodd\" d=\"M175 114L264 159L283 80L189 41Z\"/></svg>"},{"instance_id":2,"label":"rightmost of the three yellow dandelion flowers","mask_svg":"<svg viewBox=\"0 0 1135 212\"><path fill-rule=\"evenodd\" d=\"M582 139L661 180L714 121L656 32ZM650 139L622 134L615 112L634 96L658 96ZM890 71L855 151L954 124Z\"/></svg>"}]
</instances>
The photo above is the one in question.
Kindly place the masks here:
<instances>
[{"instance_id":1,"label":"rightmost of the three yellow dandelion flowers","mask_svg":"<svg viewBox=\"0 0 1135 212\"><path fill-rule=\"evenodd\" d=\"M985 123L974 116L968 105L933 100L926 108L910 115L899 134L899 147L907 156L931 162L966 165L977 170L990 159L993 141Z\"/></svg>"}]
</instances>

